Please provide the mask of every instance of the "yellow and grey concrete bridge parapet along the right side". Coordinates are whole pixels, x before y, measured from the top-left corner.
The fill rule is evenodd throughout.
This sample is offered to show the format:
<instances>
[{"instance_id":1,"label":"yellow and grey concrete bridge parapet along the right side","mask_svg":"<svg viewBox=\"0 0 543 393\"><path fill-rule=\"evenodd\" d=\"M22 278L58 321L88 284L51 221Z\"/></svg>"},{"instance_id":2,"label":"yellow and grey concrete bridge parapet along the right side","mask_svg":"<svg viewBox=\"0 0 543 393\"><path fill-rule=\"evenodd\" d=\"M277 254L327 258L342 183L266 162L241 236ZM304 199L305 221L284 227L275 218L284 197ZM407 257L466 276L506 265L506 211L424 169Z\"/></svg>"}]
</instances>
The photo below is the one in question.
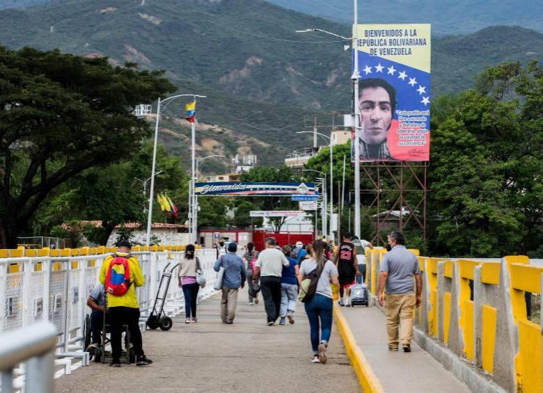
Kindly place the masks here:
<instances>
[{"instance_id":1,"label":"yellow and grey concrete bridge parapet along the right side","mask_svg":"<svg viewBox=\"0 0 543 393\"><path fill-rule=\"evenodd\" d=\"M377 296L384 252L367 251ZM473 392L542 392L542 326L527 317L525 292L541 294L543 267L527 257L419 257L422 303L414 338Z\"/></svg>"}]
</instances>

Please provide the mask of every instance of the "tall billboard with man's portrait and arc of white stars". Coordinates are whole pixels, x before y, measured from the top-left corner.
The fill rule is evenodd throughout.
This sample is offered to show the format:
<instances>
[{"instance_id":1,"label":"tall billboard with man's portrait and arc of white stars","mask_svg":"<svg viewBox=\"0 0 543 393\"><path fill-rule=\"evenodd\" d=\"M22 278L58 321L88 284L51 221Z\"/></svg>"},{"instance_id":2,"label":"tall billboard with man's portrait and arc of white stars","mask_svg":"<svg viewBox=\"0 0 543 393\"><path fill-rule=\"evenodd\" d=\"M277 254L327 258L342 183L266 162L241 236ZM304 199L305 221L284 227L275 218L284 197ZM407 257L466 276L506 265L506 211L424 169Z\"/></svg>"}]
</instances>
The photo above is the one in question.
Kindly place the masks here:
<instances>
[{"instance_id":1,"label":"tall billboard with man's portrait and arc of white stars","mask_svg":"<svg viewBox=\"0 0 543 393\"><path fill-rule=\"evenodd\" d=\"M429 161L430 24L359 24L360 161ZM354 134L352 135L354 160Z\"/></svg>"}]
</instances>

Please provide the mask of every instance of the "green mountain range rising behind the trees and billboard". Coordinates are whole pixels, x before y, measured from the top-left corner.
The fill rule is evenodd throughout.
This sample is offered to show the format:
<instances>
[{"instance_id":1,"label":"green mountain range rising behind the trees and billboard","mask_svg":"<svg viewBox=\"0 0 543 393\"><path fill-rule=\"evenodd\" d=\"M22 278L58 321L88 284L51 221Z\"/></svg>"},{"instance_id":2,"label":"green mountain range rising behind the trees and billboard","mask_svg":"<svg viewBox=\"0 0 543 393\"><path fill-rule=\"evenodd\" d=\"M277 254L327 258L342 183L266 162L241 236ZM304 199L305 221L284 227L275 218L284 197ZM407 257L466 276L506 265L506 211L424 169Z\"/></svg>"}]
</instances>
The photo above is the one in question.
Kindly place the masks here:
<instances>
[{"instance_id":1,"label":"green mountain range rising behind the trees and billboard","mask_svg":"<svg viewBox=\"0 0 543 393\"><path fill-rule=\"evenodd\" d=\"M310 27L350 31L262 0L52 0L0 10L0 45L58 47L166 70L180 93L208 97L197 108L198 154L253 153L277 165L290 150L310 145L310 136L295 132L309 129L304 125L315 116L330 124L332 113L350 111L345 40L295 33ZM434 38L432 95L469 88L482 67L542 54L543 34L519 27ZM168 106L162 139L188 162L189 127L175 118L180 112L182 102Z\"/></svg>"}]
</instances>

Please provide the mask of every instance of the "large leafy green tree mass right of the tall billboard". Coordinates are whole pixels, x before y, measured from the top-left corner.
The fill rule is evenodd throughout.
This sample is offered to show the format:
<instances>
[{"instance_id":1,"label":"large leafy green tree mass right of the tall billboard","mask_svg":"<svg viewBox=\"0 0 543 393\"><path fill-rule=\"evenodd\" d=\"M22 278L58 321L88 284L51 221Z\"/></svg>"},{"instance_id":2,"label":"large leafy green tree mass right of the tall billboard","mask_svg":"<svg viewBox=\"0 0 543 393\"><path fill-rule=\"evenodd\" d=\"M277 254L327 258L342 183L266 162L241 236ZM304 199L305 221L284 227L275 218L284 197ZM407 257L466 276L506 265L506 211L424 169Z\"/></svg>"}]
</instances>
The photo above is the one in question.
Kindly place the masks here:
<instances>
[{"instance_id":1,"label":"large leafy green tree mass right of the tall billboard","mask_svg":"<svg viewBox=\"0 0 543 393\"><path fill-rule=\"evenodd\" d=\"M434 252L536 250L543 217L543 72L503 63L436 108L429 181ZM439 103L438 103L439 104Z\"/></svg>"}]
</instances>

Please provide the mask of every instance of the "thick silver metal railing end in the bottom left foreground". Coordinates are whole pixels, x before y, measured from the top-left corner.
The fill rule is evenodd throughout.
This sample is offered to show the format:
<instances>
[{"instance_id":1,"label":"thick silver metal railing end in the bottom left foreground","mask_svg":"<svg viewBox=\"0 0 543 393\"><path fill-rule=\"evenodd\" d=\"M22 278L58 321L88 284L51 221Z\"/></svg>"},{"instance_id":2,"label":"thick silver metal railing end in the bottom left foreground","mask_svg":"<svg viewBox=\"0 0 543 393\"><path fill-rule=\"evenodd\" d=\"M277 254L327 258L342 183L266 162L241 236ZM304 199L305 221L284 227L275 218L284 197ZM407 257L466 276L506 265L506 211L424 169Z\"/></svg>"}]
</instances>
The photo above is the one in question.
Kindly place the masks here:
<instances>
[{"instance_id":1,"label":"thick silver metal railing end in the bottom left foreground","mask_svg":"<svg viewBox=\"0 0 543 393\"><path fill-rule=\"evenodd\" d=\"M24 362L26 392L53 393L55 326L48 322L33 323L1 338L1 391L13 391L14 369Z\"/></svg>"}]
</instances>

